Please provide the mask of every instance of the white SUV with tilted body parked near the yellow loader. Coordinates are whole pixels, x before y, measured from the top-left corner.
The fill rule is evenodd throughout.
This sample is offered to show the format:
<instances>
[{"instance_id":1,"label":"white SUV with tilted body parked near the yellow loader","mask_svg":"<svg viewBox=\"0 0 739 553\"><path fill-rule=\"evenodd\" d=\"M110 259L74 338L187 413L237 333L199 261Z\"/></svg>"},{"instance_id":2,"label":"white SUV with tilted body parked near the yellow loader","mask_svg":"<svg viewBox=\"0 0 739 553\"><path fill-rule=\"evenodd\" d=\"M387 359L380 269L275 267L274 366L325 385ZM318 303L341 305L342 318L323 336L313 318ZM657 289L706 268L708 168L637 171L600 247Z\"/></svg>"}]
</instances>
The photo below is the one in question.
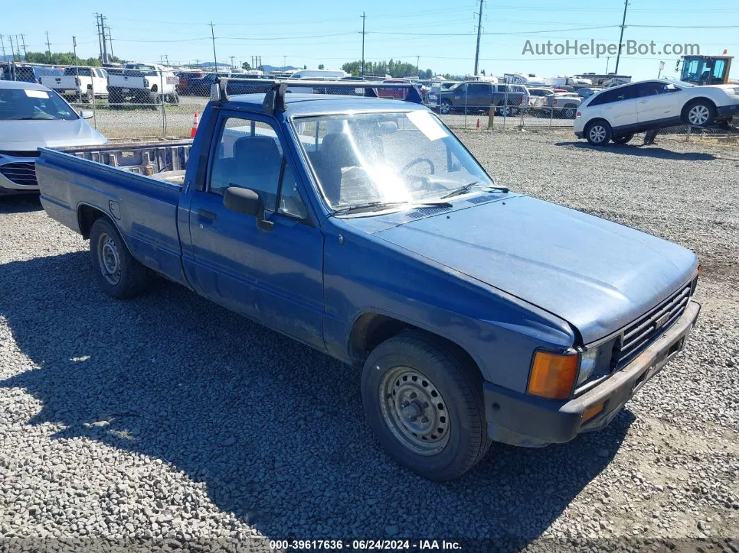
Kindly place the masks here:
<instances>
[{"instance_id":1,"label":"white SUV with tilted body parked near the yellow loader","mask_svg":"<svg viewBox=\"0 0 739 553\"><path fill-rule=\"evenodd\" d=\"M593 145L625 144L638 132L721 124L734 115L739 115L739 86L642 80L590 96L577 111L574 130Z\"/></svg>"}]
</instances>

